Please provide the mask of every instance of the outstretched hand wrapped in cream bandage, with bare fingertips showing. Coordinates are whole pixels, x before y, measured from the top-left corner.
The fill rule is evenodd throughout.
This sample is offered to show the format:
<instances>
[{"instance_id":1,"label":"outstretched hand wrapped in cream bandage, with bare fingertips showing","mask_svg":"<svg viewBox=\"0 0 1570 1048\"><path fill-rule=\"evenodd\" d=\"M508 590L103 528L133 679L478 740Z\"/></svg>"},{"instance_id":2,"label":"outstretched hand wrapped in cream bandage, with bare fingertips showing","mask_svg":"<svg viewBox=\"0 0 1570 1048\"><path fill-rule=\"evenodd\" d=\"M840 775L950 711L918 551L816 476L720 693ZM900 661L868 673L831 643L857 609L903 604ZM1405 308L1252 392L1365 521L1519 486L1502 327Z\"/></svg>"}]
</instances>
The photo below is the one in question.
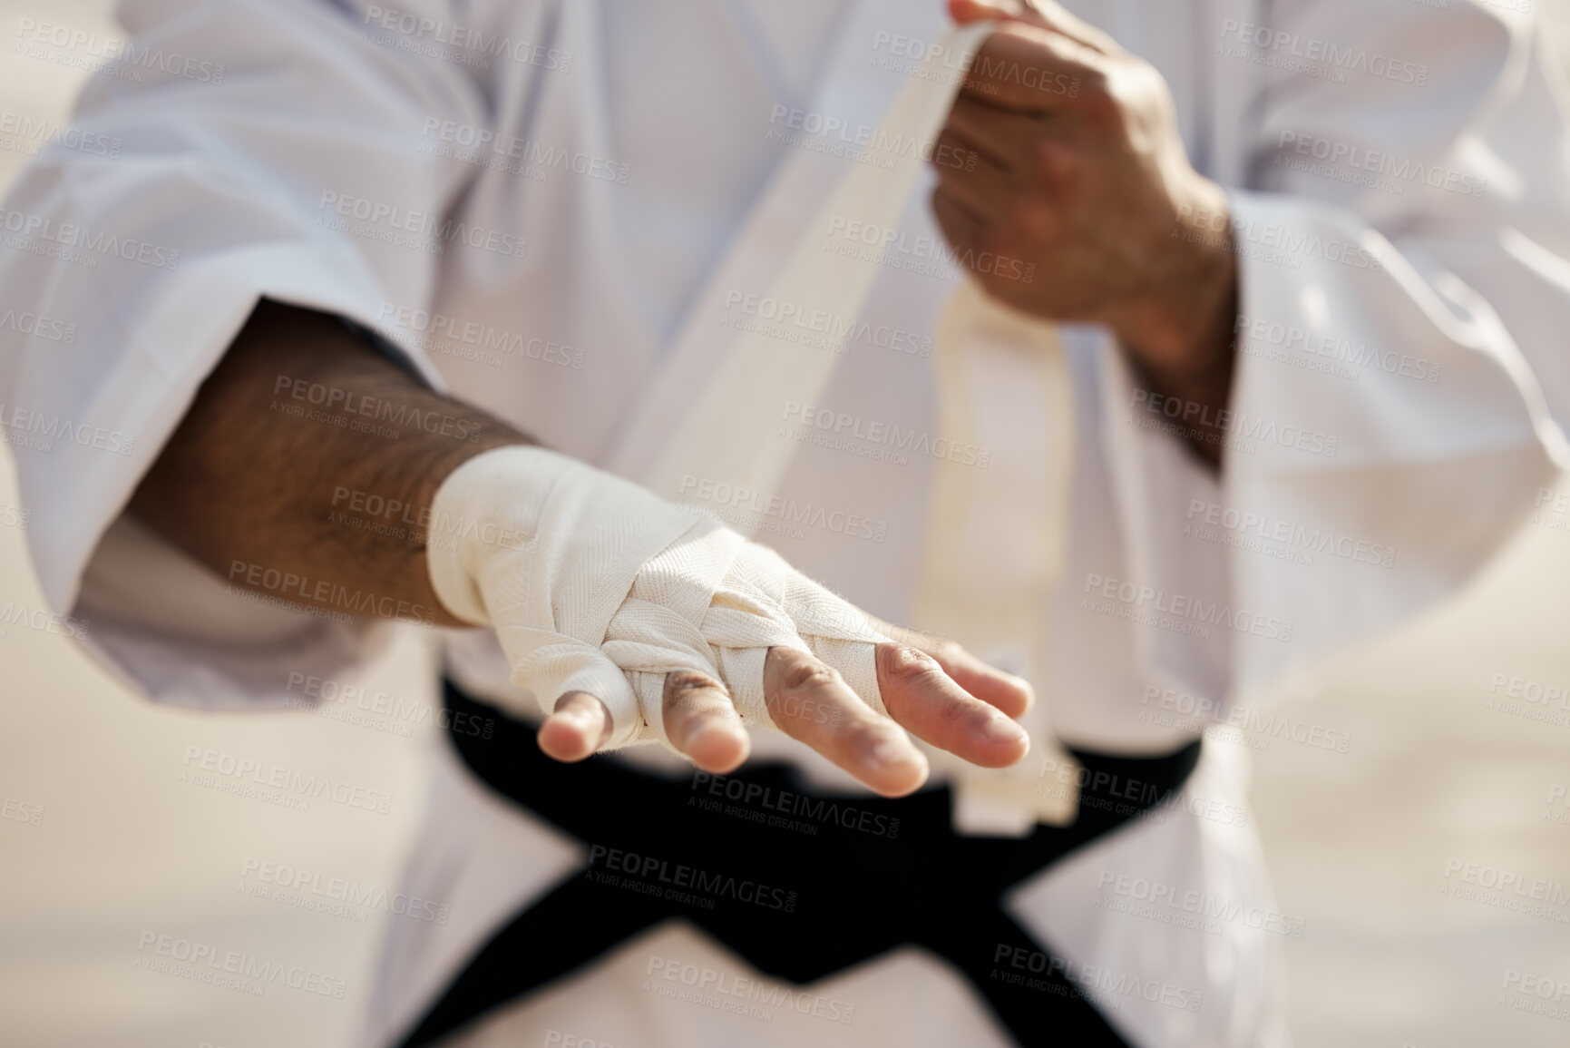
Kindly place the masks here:
<instances>
[{"instance_id":1,"label":"outstretched hand wrapped in cream bandage, with bare fingertips showing","mask_svg":"<svg viewBox=\"0 0 1570 1048\"><path fill-rule=\"evenodd\" d=\"M901 731L983 767L1024 757L1030 688L876 622L772 550L542 448L498 448L436 492L447 610L491 625L560 760L658 740L725 773L744 724L783 731L885 795L926 779ZM436 537L441 536L441 540Z\"/></svg>"}]
</instances>

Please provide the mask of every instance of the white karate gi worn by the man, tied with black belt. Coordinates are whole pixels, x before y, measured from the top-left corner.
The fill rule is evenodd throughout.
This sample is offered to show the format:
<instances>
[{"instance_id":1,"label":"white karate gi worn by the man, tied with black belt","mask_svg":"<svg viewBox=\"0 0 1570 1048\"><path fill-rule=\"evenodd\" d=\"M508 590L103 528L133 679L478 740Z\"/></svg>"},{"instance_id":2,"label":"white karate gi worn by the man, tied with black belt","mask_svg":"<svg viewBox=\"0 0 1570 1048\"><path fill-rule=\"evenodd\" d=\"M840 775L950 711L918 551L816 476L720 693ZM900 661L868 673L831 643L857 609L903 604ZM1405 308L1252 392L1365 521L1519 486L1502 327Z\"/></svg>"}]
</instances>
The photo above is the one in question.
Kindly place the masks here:
<instances>
[{"instance_id":1,"label":"white karate gi worn by the man, tied with black belt","mask_svg":"<svg viewBox=\"0 0 1570 1048\"><path fill-rule=\"evenodd\" d=\"M1195 167L1231 190L1242 314L1259 321L1243 332L1220 479L1162 431L1104 332L1064 332L1069 567L1036 683L1064 740L1157 754L1195 735L1163 704L1231 709L1311 687L1460 586L1550 482L1554 420L1570 415L1570 143L1532 19L1499 5L1069 6L1171 85ZM402 0L388 16L361 0L126 0L149 50L127 58L135 75L96 77L77 116L121 156L52 149L0 212L5 306L75 325L69 343L50 335L64 327L0 325L0 423L52 605L91 617L97 655L157 701L240 709L279 701L287 671L344 679L388 627L228 595L121 520L257 297L349 317L430 383L633 471L650 453L630 440L653 424L650 391L678 413L700 379L663 374L664 350L689 324L755 322L757 273L801 234L788 218L807 201L771 195L772 176L804 154L851 162L823 129L876 124L911 41L939 35L939 8ZM876 145L859 159L878 162ZM785 220L747 225L769 207ZM827 512L760 531L892 621L912 600L929 464L947 453L925 354L955 283L926 272L940 237L923 200L901 233L864 333L810 405L834 423L779 405L801 440L780 495ZM432 316L440 332L418 330ZM1254 514L1247 529L1234 509ZM476 694L507 687L485 633L455 635L449 660ZM780 737L757 748L849 787ZM582 861L443 760L407 891L454 921L392 930L371 1045L400 1035L498 922ZM1239 746L1207 745L1185 804L1242 809L1245 779ZM1273 952L1294 924L1272 910L1253 830L1232 822L1187 809L1138 822L1014 894L1014 914L1115 1001L1107 1015L1132 1043L1287 1043ZM1137 885L1203 913L1141 910ZM1195 916L1203 927L1181 925ZM645 993L650 955L744 973L689 932L655 935L515 1006L498 1031L645 1048L1006 1043L922 954L815 987L854 1002L853 1024L758 1023Z\"/></svg>"}]
</instances>

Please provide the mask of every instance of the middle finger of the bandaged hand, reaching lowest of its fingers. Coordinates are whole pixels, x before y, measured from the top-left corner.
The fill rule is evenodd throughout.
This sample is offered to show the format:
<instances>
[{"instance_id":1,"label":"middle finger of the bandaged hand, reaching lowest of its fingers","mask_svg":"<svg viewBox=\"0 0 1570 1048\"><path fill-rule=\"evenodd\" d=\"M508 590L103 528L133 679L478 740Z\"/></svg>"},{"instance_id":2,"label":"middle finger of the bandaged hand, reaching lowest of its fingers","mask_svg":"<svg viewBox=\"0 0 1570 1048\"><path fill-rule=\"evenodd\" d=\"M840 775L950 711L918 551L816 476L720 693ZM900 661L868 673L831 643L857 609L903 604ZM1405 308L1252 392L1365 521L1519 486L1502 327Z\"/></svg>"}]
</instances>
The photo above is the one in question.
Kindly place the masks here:
<instances>
[{"instance_id":1,"label":"middle finger of the bandaged hand, reaching lowest of its fingers","mask_svg":"<svg viewBox=\"0 0 1570 1048\"><path fill-rule=\"evenodd\" d=\"M926 781L926 757L898 724L879 716L838 672L810 652L771 647L763 693L774 724L884 797L904 797Z\"/></svg>"}]
</instances>

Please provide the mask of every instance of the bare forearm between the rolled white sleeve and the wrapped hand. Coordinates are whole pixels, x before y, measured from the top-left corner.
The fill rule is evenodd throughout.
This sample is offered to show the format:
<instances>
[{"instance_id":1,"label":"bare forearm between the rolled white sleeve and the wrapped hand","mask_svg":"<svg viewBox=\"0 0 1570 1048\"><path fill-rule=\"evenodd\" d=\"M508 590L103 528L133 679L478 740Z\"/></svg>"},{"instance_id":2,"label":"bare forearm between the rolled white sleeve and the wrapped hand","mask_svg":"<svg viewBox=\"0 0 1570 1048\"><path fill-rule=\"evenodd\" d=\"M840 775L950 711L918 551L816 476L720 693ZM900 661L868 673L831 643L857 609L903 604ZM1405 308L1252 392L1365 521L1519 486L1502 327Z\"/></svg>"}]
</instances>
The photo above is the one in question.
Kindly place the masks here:
<instances>
[{"instance_id":1,"label":"bare forearm between the rolled white sleeve and the wrapped hand","mask_svg":"<svg viewBox=\"0 0 1570 1048\"><path fill-rule=\"evenodd\" d=\"M462 625L430 588L432 500L469 457L534 443L432 393L333 317L264 302L130 512L231 584ZM287 577L294 577L284 586Z\"/></svg>"}]
</instances>

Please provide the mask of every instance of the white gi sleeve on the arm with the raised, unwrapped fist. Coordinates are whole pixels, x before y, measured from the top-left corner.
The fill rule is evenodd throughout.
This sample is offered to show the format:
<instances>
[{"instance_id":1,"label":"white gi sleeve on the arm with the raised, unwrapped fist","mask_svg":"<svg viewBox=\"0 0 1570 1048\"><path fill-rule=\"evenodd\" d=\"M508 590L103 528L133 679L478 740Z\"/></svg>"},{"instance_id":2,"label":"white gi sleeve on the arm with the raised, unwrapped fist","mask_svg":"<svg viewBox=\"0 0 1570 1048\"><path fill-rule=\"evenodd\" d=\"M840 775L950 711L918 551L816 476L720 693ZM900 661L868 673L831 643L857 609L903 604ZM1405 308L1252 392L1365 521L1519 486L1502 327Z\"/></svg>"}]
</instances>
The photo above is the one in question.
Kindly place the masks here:
<instances>
[{"instance_id":1,"label":"white gi sleeve on the arm with the raised, unwrapped fist","mask_svg":"<svg viewBox=\"0 0 1570 1048\"><path fill-rule=\"evenodd\" d=\"M1190 405L1127 376L1110 442L1157 586L1196 539L1229 547L1212 595L1237 702L1311 691L1454 594L1570 460L1570 140L1534 19L1259 9L1210 60L1251 97L1217 130L1240 280L1220 492L1173 476L1196 470L1171 454ZM1146 639L1156 661L1181 646Z\"/></svg>"}]
</instances>

